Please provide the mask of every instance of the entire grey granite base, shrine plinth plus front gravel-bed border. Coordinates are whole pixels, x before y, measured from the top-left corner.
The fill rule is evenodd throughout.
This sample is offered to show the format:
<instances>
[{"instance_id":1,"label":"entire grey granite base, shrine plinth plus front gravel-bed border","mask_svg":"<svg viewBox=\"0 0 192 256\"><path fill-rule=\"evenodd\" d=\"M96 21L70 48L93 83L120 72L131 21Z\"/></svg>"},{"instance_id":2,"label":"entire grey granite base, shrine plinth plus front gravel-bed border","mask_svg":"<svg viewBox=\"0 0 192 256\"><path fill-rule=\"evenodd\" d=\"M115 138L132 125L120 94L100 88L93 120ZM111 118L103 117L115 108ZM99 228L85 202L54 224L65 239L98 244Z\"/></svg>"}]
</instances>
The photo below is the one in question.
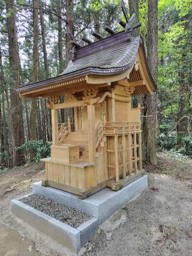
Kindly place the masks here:
<instances>
[{"instance_id":1,"label":"entire grey granite base, shrine plinth plus front gravel-bed border","mask_svg":"<svg viewBox=\"0 0 192 256\"><path fill-rule=\"evenodd\" d=\"M23 204L19 201L23 197L17 200L11 200L11 212L17 218L22 219L56 242L61 243L65 248L77 252L96 233L100 224L106 221L107 218L112 216L124 204L141 194L147 187L148 178L144 175L118 191L113 191L109 187L106 187L85 200L80 200L76 195L68 192L49 186L43 187L41 186L41 181L32 185L32 194L43 195L46 198L50 198L58 203L92 216L91 219L78 228L72 228L61 221ZM27 196L25 195L24 197Z\"/></svg>"}]
</instances>

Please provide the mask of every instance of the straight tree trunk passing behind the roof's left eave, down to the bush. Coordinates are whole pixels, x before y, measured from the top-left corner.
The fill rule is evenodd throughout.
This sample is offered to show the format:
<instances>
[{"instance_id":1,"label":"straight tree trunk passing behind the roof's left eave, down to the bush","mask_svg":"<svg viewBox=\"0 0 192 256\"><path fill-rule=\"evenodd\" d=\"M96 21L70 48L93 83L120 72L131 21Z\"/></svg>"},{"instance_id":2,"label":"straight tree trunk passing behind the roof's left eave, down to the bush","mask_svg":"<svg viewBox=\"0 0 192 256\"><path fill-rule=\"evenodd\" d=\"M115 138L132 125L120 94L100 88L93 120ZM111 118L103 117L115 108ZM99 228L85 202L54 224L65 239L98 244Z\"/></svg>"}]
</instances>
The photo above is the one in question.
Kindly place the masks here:
<instances>
[{"instance_id":1,"label":"straight tree trunk passing behind the roof's left eave, down to the bush","mask_svg":"<svg viewBox=\"0 0 192 256\"><path fill-rule=\"evenodd\" d=\"M34 42L32 53L32 82L38 81L38 0L33 1L34 4ZM31 103L31 141L37 138L37 99L32 99ZM34 150L31 150L31 160L34 159Z\"/></svg>"}]
</instances>

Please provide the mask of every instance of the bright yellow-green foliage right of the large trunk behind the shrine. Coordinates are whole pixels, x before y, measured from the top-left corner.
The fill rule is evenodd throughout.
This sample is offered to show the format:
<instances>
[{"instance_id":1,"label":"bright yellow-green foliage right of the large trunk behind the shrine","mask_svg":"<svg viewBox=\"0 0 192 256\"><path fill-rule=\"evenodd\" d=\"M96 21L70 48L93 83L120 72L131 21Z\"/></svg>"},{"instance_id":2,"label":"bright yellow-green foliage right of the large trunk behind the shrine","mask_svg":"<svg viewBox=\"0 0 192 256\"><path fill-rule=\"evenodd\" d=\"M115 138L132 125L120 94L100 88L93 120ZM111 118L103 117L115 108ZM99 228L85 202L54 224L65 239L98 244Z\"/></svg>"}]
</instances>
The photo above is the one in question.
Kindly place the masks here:
<instances>
[{"instance_id":1,"label":"bright yellow-green foliage right of the large trunk behind the shrine","mask_svg":"<svg viewBox=\"0 0 192 256\"><path fill-rule=\"evenodd\" d=\"M158 1L158 88L164 120L178 121L181 100L191 99L191 6L190 0ZM182 115L190 112L190 105L185 105Z\"/></svg>"}]
</instances>

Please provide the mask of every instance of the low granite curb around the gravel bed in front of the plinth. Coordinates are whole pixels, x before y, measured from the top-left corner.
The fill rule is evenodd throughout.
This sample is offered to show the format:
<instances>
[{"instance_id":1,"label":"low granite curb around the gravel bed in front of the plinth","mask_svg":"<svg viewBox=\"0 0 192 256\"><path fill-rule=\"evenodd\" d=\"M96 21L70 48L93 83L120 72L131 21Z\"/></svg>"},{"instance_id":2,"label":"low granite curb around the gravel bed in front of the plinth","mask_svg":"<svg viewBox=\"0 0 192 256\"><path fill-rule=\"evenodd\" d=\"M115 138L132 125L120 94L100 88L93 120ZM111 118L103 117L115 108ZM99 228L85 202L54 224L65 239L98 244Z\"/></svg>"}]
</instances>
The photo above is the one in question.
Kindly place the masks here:
<instances>
[{"instance_id":1,"label":"low granite curb around the gravel bed in front of the plinth","mask_svg":"<svg viewBox=\"0 0 192 256\"><path fill-rule=\"evenodd\" d=\"M24 197L20 197L19 199ZM11 212L17 218L28 222L32 227L75 252L79 251L91 239L98 228L97 218L93 217L78 228L72 228L16 199L11 200Z\"/></svg>"}]
</instances>

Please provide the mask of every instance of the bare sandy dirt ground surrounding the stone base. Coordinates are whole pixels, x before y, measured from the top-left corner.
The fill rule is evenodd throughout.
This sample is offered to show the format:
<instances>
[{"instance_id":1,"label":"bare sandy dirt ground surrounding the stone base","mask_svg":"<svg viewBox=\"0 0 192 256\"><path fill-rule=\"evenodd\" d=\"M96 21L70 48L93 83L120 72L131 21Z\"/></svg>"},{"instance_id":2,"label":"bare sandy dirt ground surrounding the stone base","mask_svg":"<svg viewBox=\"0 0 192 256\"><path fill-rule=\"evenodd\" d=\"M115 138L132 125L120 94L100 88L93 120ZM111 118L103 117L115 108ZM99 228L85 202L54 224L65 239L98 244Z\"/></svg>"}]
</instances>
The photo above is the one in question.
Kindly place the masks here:
<instances>
[{"instance_id":1,"label":"bare sandy dirt ground surrounding the stone base","mask_svg":"<svg viewBox=\"0 0 192 256\"><path fill-rule=\"evenodd\" d=\"M192 160L158 154L148 189L104 222L79 255L192 255ZM31 192L43 163L0 173L0 255L70 255L16 222L10 200ZM57 252L56 252L57 249Z\"/></svg>"}]
</instances>

